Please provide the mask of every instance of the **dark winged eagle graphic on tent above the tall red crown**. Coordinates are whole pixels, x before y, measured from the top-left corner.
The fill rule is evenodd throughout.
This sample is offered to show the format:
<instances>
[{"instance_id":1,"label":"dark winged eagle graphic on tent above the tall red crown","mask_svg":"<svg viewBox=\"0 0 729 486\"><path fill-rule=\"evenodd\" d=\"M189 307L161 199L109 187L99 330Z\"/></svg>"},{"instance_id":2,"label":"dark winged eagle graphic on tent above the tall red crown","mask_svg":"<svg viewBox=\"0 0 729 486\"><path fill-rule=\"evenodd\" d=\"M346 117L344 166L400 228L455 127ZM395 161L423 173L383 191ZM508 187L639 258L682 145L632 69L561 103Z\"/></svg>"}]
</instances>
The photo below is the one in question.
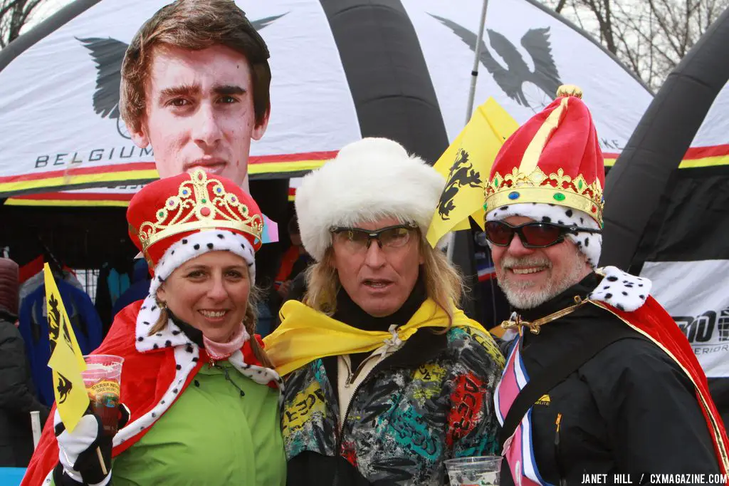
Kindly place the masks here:
<instances>
[{"instance_id":1,"label":"dark winged eagle graphic on tent above the tall red crown","mask_svg":"<svg viewBox=\"0 0 729 486\"><path fill-rule=\"evenodd\" d=\"M433 14L429 15L450 28L453 34L459 36L475 52L476 34L453 22L453 20ZM518 104L530 107L535 111L549 104L556 96L557 88L562 84L552 57L552 48L549 42L550 28L531 28L521 38L521 45L534 61L534 71L527 66L524 58L509 39L490 28L486 30L488 31L488 39L491 41L491 47L504 60L507 69L504 69L499 61L494 59L483 40L481 41L479 58L486 70L494 77L499 88L502 88L504 93ZM535 85L545 93L546 98L541 93L525 94L525 83ZM529 91L528 88L527 90Z\"/></svg>"}]
</instances>

